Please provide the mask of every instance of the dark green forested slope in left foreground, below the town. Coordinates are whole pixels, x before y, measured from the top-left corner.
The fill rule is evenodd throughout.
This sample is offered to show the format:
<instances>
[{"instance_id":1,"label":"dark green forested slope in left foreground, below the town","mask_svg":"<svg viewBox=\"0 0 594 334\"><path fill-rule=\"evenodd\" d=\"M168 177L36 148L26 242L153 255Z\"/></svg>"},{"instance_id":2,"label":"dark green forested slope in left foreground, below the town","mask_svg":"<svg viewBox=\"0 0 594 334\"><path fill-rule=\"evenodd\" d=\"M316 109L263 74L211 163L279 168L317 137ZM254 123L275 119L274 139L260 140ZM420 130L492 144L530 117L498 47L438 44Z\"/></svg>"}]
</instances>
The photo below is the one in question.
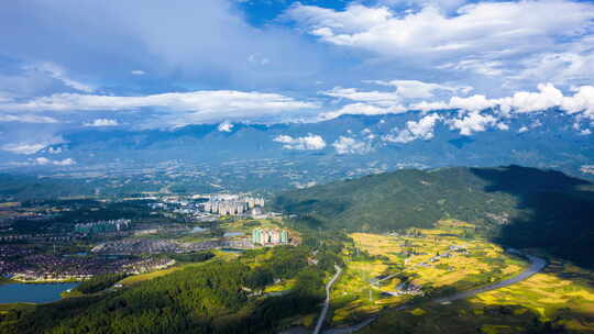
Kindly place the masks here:
<instances>
[{"instance_id":1,"label":"dark green forested slope in left foreground, below the town","mask_svg":"<svg viewBox=\"0 0 594 334\"><path fill-rule=\"evenodd\" d=\"M121 277L99 277L77 289L85 292L82 297L3 316L0 332L273 332L282 319L316 312L326 296L323 285L333 263L322 252L322 260L309 265L310 254L305 246L254 249L234 260L187 266L116 291L105 289ZM256 260L256 256L266 260ZM287 293L262 293L264 287L285 279L295 279Z\"/></svg>"}]
</instances>

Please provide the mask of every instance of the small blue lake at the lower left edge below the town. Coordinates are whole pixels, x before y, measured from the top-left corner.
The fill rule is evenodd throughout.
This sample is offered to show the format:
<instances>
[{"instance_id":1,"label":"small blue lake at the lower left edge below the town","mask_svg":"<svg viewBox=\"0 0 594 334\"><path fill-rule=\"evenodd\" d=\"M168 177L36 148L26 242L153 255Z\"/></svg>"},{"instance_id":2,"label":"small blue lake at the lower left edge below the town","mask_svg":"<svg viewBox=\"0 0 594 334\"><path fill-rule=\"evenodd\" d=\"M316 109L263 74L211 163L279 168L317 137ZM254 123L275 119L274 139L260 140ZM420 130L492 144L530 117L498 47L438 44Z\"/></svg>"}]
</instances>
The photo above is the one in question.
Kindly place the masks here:
<instances>
[{"instance_id":1,"label":"small blue lake at the lower left edge below the town","mask_svg":"<svg viewBox=\"0 0 594 334\"><path fill-rule=\"evenodd\" d=\"M78 282L0 285L0 304L15 302L52 302L61 299L59 293L75 288L76 286L78 286Z\"/></svg>"}]
</instances>

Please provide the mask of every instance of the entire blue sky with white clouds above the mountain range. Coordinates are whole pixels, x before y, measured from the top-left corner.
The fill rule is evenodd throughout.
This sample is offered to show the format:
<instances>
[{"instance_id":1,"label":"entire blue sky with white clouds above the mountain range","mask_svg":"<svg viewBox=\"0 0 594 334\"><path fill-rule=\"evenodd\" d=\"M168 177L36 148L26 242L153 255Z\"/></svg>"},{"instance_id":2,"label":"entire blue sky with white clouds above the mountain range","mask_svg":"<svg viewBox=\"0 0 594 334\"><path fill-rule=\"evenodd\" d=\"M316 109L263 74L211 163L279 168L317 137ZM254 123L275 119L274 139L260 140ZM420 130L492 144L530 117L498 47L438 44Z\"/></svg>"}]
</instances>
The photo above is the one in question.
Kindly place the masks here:
<instances>
[{"instance_id":1,"label":"entire blue sky with white clouds above the mountain range","mask_svg":"<svg viewBox=\"0 0 594 334\"><path fill-rule=\"evenodd\" d=\"M551 109L594 127L591 1L4 1L0 31L0 149L14 154L73 129L342 114L417 113L385 138L398 143Z\"/></svg>"}]
</instances>

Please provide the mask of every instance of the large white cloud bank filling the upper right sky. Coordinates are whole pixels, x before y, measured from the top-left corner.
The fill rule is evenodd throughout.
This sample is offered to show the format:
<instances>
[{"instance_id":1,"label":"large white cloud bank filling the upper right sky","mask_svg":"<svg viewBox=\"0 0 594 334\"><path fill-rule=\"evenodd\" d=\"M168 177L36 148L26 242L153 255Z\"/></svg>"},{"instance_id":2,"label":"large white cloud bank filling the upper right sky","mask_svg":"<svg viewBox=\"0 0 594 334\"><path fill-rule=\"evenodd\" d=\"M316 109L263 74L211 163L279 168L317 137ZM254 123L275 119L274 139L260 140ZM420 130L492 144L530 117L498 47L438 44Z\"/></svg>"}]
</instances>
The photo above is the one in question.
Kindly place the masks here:
<instances>
[{"instance_id":1,"label":"large white cloud bank filling the upper right sky","mask_svg":"<svg viewBox=\"0 0 594 334\"><path fill-rule=\"evenodd\" d=\"M386 69L404 74L431 70L493 90L583 84L594 74L591 1L363 3L370 2L352 1L343 10L298 3L285 16L322 43L365 52L359 53L365 65L389 64Z\"/></svg>"}]
</instances>

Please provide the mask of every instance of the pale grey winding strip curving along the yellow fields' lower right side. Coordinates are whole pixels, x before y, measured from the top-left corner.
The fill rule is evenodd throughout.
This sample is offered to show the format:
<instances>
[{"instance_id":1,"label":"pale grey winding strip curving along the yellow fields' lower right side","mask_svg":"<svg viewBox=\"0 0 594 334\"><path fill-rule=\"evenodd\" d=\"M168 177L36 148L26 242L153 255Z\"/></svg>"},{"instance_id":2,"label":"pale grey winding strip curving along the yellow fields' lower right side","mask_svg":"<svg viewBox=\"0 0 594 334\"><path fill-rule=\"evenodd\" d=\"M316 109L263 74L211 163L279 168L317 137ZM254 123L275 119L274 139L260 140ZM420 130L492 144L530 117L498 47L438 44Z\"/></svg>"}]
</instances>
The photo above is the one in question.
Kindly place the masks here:
<instances>
[{"instance_id":1,"label":"pale grey winding strip curving along the yellow fields' lower right side","mask_svg":"<svg viewBox=\"0 0 594 334\"><path fill-rule=\"evenodd\" d=\"M514 254L520 254L519 252L514 250L514 249L508 250L508 252L514 253ZM526 270L521 271L521 274L519 274L518 276L515 276L513 278L498 281L496 283L493 283L493 285L490 285L490 286L486 286L486 287L483 287L483 288L479 288L479 289L474 289L474 290L470 290L470 291L459 292L459 293L455 293L455 294L452 294L452 296L449 296L449 297L436 298L436 299L430 300L429 302L430 303L448 303L448 302L452 302L454 300L473 297L473 296L482 293L482 292L501 289L501 288L504 288L504 287L520 282L520 281L522 281L525 279L528 279L529 277L531 277L532 275L539 272L540 270L542 270L547 266L547 261L543 260L542 258L531 256L531 255L522 255L522 256L526 256L530 260L530 267L527 268ZM328 302L328 300L327 300L327 302ZM400 311L400 310L406 310L406 309L409 309L409 308L413 308L413 307L414 305L402 305L402 307L398 307L398 308L395 308L395 309L392 309L392 310ZM330 329L330 330L323 331L323 334L350 334L350 333L354 333L354 332L361 331L363 327L370 325L377 318L378 318L378 315L374 315L372 318L366 319L363 322L360 322L360 323L358 323L355 325L352 325L352 326L349 326L349 327ZM316 330L318 330L318 326L316 326ZM314 332L314 333L318 334L318 332Z\"/></svg>"}]
</instances>

